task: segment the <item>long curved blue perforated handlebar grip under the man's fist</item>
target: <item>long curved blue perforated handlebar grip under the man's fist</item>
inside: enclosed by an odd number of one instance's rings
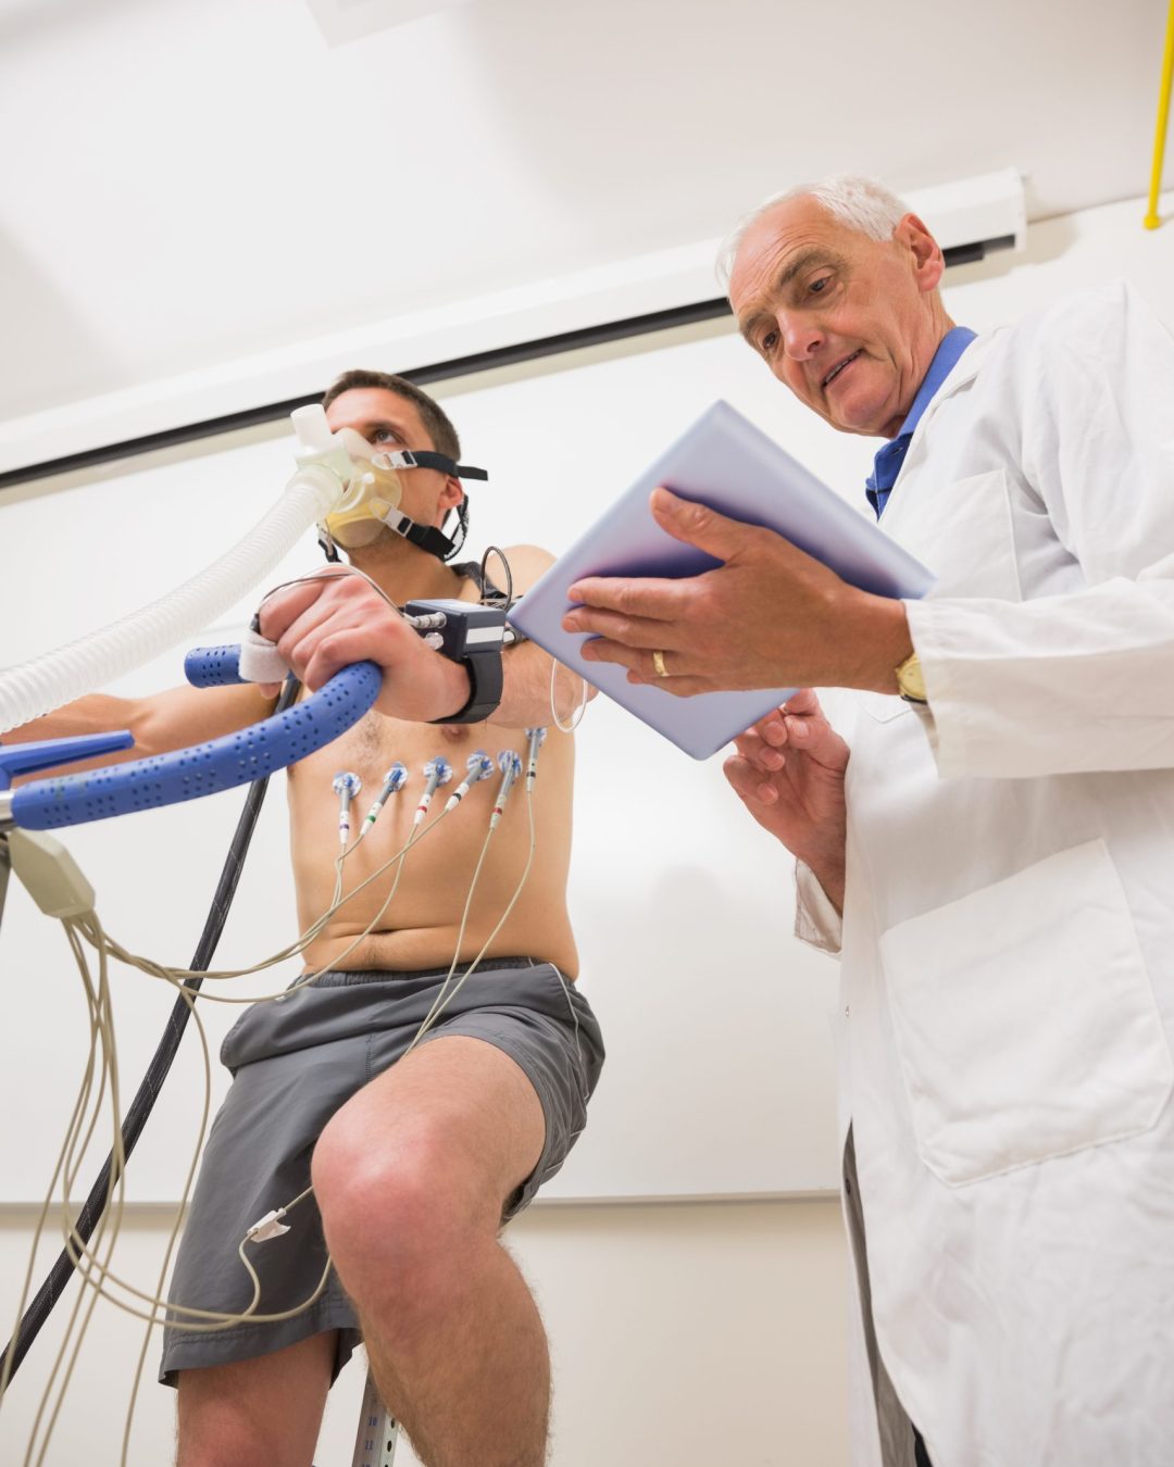
[[[382,685],[376,663],[352,663],[305,703],[236,734],[131,764],[23,785],[12,797],[12,820],[25,830],[56,830],[264,779],[345,734],[371,707]]]

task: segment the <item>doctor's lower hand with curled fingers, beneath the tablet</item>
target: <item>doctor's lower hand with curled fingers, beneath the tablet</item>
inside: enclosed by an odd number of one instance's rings
[[[795,692],[734,744],[738,753],[725,761],[725,778],[763,830],[812,868],[842,911],[850,751],[814,692]]]

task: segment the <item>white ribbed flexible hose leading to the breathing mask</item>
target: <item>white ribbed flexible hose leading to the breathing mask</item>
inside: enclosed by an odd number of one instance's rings
[[[192,637],[257,585],[342,499],[324,464],[305,464],[230,550],[183,585],[100,631],[0,673],[0,734],[92,692]]]

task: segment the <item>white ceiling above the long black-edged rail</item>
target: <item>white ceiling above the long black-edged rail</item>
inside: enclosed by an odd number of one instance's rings
[[[1032,219],[1142,195],[1165,10],[0,0],[0,420],[722,235],[831,170],[1016,166]]]

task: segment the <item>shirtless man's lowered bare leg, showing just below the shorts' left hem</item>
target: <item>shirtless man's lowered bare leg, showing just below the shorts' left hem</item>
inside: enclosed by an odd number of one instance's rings
[[[311,1467],[335,1334],[179,1373],[179,1467]]]

